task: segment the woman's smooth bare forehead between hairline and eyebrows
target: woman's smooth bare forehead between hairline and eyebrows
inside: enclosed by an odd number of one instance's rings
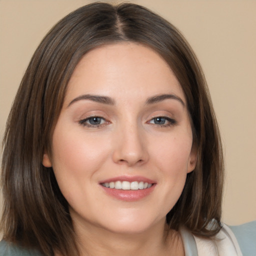
[[[141,97],[173,93],[185,102],[181,86],[166,61],[150,47],[125,42],[103,45],[86,53],[67,85],[66,98],[93,93]]]

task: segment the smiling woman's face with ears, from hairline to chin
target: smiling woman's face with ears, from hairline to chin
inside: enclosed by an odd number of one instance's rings
[[[186,100],[167,63],[135,43],[97,47],[74,69],[52,166],[74,224],[142,232],[165,222],[195,166]]]

